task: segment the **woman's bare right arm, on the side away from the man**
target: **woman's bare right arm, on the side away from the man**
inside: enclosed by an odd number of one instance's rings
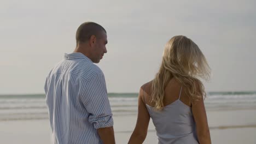
[[[191,109],[196,123],[196,132],[199,143],[211,143],[210,130],[208,127],[203,98],[201,98],[199,101],[194,101],[194,103],[191,106]]]

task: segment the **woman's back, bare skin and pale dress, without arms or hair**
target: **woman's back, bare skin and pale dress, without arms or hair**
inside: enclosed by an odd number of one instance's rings
[[[144,100],[155,125],[159,143],[198,143],[190,102],[182,86],[171,79],[165,88],[164,107],[156,111],[150,106],[150,83],[144,85]]]

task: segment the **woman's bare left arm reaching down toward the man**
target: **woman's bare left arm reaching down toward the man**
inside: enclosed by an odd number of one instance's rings
[[[144,99],[144,91],[141,88],[139,91],[138,96],[138,117],[137,117],[137,123],[136,127],[133,130],[133,133],[130,137],[129,144],[134,143],[143,143],[143,141],[146,139],[147,132],[148,132],[148,124],[150,120],[150,116],[146,107]]]

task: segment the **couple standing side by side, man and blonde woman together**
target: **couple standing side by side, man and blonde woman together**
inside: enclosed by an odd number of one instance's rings
[[[76,33],[77,47],[46,77],[46,104],[53,143],[115,143],[112,112],[104,75],[94,63],[107,53],[106,30],[85,22]],[[203,97],[196,77],[210,68],[199,47],[184,36],[171,38],[155,78],[138,95],[138,118],[129,143],[143,143],[149,119],[159,143],[211,143]]]

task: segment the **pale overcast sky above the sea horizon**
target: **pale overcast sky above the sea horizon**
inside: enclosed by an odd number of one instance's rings
[[[0,94],[43,93],[45,77],[75,48],[85,21],[107,30],[97,64],[108,92],[138,92],[165,43],[186,35],[212,68],[206,91],[256,91],[255,1],[2,1]]]

